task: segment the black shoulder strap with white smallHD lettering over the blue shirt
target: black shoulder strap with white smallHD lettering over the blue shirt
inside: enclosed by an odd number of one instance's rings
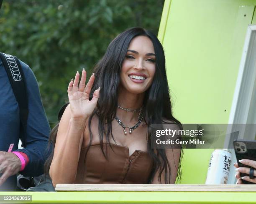
[[[28,94],[26,80],[17,57],[0,52],[0,58],[8,75],[10,85],[20,108],[20,140],[26,147],[26,127],[28,120]]]

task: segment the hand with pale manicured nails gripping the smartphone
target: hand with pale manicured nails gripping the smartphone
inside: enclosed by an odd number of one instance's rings
[[[256,161],[253,161],[253,160],[250,160],[250,159],[242,159],[242,160],[239,160],[239,162],[256,169]],[[236,184],[243,184],[243,180],[248,181],[248,182],[252,182],[252,183],[256,183],[256,170],[254,170],[254,173],[253,173],[254,178],[253,179],[250,179],[249,176],[245,176],[245,177],[243,177],[243,179],[241,179],[240,173],[249,174],[250,168],[248,168],[248,167],[238,167],[238,163],[235,163],[234,166],[237,168],[236,178],[238,180],[237,180]]]

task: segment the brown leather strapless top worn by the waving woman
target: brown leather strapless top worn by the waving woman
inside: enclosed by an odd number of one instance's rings
[[[147,152],[136,150],[129,156],[128,147],[107,145],[107,159],[100,144],[91,145],[80,153],[76,184],[147,184],[154,160]],[[86,153],[87,152],[87,153]]]

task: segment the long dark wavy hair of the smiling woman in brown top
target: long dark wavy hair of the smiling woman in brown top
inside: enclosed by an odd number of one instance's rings
[[[100,135],[100,147],[105,155],[103,150],[103,137],[105,135],[109,144],[110,137],[113,138],[111,123],[113,119],[115,119],[118,106],[118,87],[120,85],[120,72],[123,60],[125,59],[131,40],[133,40],[134,37],[141,35],[148,37],[152,41],[156,54],[156,72],[152,85],[146,91],[143,101],[144,120],[148,125],[148,153],[154,159],[154,167],[148,182],[151,183],[156,171],[159,170],[158,180],[161,182],[161,174],[165,171],[164,182],[165,184],[169,184],[171,179],[171,168],[166,157],[165,149],[151,149],[151,142],[152,139],[154,139],[152,136],[153,132],[151,124],[162,124],[164,122],[163,119],[165,119],[177,124],[180,129],[182,129],[182,125],[172,115],[172,104],[165,69],[164,49],[156,35],[149,30],[145,30],[141,27],[133,27],[120,33],[114,40],[112,40],[112,42],[110,42],[105,55],[94,67],[95,82],[92,87],[90,98],[92,98],[93,92],[98,87],[100,87],[100,97],[97,102],[97,108],[89,117],[90,144],[92,142],[91,122],[92,117],[96,114],[99,122],[98,132]],[[107,127],[105,127],[105,124]],[[182,159],[182,155],[183,151],[181,149],[180,160]],[[51,162],[51,159],[49,159],[48,163],[49,162]],[[181,178],[180,162],[177,178],[178,180]]]

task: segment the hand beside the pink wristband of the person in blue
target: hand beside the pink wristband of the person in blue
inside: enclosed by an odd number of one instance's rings
[[[0,169],[3,175],[0,177],[0,186],[10,176],[17,174],[20,171],[20,159],[12,152],[0,151]]]

